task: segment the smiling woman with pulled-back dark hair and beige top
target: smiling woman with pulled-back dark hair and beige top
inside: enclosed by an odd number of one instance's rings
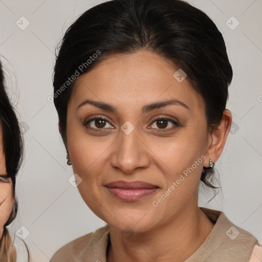
[[[198,205],[230,131],[232,75],[221,32],[184,1],[108,1],[69,27],[53,78],[59,132],[106,226],[52,262],[262,259],[251,233]]]

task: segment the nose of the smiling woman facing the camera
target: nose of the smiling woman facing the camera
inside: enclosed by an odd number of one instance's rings
[[[148,167],[150,149],[136,128],[129,134],[123,130],[120,130],[119,133],[112,147],[110,158],[112,167],[119,168],[126,174],[132,174],[139,168]]]

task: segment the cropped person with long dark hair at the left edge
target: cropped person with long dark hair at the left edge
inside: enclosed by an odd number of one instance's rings
[[[23,137],[6,88],[0,61],[0,261],[15,262],[16,249],[7,226],[15,219],[15,182],[23,160]],[[29,252],[27,248],[27,252]],[[29,255],[29,253],[28,253]]]

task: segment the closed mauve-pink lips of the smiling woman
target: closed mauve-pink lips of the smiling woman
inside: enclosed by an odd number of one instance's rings
[[[136,201],[154,194],[159,187],[143,181],[114,181],[105,185],[108,192],[124,201]]]

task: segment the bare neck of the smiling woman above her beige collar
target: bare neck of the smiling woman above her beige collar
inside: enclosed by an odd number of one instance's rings
[[[182,262],[204,243],[213,226],[197,205],[165,225],[150,232],[135,233],[129,239],[110,226],[111,245],[106,261]]]

